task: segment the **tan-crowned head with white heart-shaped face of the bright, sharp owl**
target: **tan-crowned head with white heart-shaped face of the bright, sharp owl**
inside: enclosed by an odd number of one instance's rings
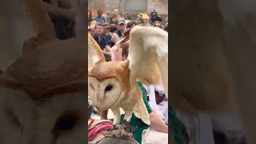
[[[130,90],[129,61],[101,62],[88,74],[88,92],[94,105],[109,109]]]

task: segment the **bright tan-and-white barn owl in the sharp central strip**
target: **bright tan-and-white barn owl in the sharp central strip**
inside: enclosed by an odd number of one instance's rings
[[[90,99],[99,108],[113,111],[114,124],[120,122],[121,107],[127,122],[134,113],[150,125],[137,80],[147,84],[163,82],[168,94],[167,42],[166,31],[150,26],[135,26],[130,33],[129,61],[98,62],[89,71]]]

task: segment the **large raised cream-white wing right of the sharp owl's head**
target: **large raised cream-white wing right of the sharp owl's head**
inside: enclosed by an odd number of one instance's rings
[[[130,82],[162,82],[168,97],[168,33],[153,26],[135,26],[130,32]],[[131,83],[132,85],[134,83]]]

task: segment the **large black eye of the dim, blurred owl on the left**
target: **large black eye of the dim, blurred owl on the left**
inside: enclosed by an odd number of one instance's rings
[[[76,118],[72,116],[64,116],[59,118],[55,125],[55,130],[72,130],[76,124]]]

